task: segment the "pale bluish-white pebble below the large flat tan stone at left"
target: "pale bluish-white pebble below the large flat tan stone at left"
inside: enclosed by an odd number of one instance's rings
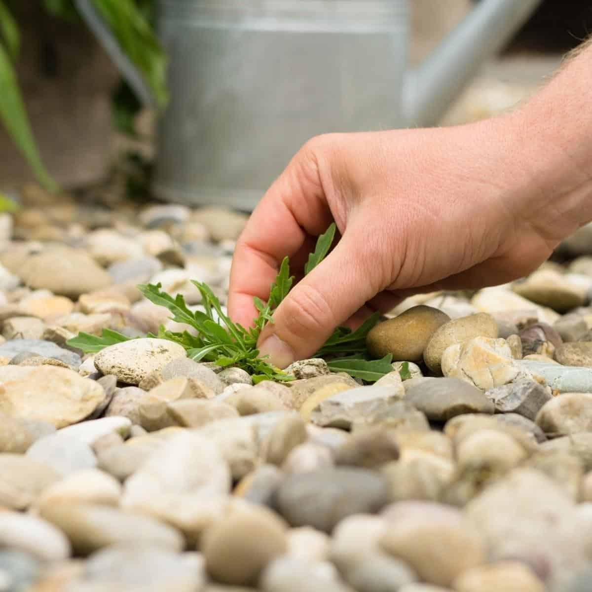
[[[60,432],[36,440],[27,457],[50,466],[62,477],[96,466],[95,453],[88,443]]]

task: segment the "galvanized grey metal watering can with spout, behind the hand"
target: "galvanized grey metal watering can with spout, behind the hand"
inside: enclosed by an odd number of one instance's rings
[[[539,3],[480,0],[409,70],[408,0],[159,0],[171,101],[155,192],[252,210],[317,134],[435,125]]]

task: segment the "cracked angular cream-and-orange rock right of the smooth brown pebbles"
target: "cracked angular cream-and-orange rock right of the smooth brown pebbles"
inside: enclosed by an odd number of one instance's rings
[[[442,355],[445,377],[460,378],[486,391],[513,381],[521,374],[504,339],[475,337],[451,345]],[[522,370],[522,375],[527,375]]]

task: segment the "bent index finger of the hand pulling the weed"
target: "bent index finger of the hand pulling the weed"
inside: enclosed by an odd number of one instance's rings
[[[252,324],[253,297],[268,298],[282,259],[302,259],[303,250],[314,247],[310,236],[323,233],[332,221],[317,154],[305,146],[262,198],[237,242],[230,272],[230,317]]]

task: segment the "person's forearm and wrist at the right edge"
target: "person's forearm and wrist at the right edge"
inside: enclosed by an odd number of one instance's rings
[[[507,121],[523,195],[549,239],[592,220],[592,42]]]

